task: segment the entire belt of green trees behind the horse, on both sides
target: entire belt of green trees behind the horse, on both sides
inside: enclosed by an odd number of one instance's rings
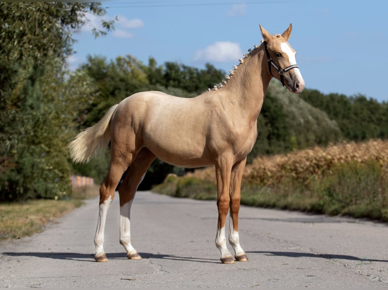
[[[131,55],[114,60],[89,56],[73,72],[65,65],[74,32],[88,15],[103,16],[100,3],[0,3],[0,201],[65,198],[70,174],[102,182],[109,153],[89,164],[72,164],[67,144],[93,125],[107,108],[144,90],[191,98],[218,84],[225,72],[175,62],[143,64]],[[101,18],[102,30],[112,21]],[[258,155],[326,145],[341,138],[388,136],[388,104],[363,95],[347,97],[305,89],[300,96],[271,82],[258,117],[258,138],[249,160]],[[185,169],[156,160],[141,189]]]

